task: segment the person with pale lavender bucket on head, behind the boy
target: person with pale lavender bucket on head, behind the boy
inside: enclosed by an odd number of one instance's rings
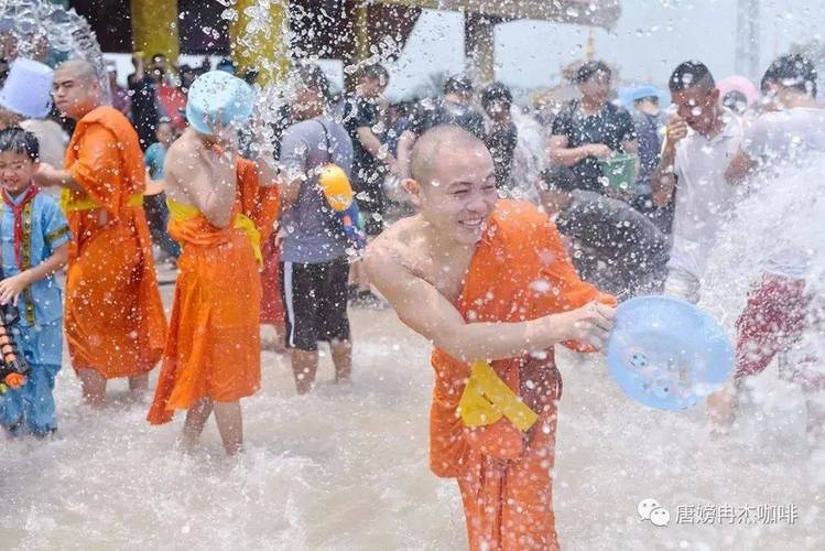
[[[40,160],[53,166],[63,164],[68,134],[48,118],[52,110],[52,79],[47,65],[18,57],[0,90],[0,127],[20,126],[37,138]]]

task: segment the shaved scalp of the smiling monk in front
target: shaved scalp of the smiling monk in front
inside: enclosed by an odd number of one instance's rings
[[[413,145],[410,174],[422,184],[430,183],[438,161],[453,155],[478,155],[486,152],[485,142],[460,127],[442,125],[424,132]]]

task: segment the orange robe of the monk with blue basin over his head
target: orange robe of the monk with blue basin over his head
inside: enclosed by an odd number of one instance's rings
[[[169,233],[183,250],[163,365],[148,415],[152,424],[171,421],[175,410],[189,409],[202,398],[234,402],[260,386],[260,241],[253,245],[236,223],[240,215],[249,217],[261,240],[267,239],[279,199],[275,187],[258,185],[253,163],[239,161],[229,226],[215,227],[200,213],[176,219],[173,209],[170,217]]]

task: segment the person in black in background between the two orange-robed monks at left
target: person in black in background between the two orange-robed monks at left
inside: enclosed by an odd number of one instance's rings
[[[158,120],[161,118],[158,86],[165,71],[165,58],[162,58],[162,55],[155,55],[152,66],[146,67],[142,53],[135,52],[132,56],[134,73],[128,77],[129,93],[132,97],[132,125],[138,131],[143,151],[154,143]]]

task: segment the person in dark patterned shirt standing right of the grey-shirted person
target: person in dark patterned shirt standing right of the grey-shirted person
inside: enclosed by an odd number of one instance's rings
[[[352,188],[368,236],[383,231],[387,204],[383,181],[388,173],[398,173],[395,158],[383,144],[386,114],[379,109],[388,84],[389,73],[381,65],[361,67],[356,91],[344,108],[344,127],[352,140]]]

